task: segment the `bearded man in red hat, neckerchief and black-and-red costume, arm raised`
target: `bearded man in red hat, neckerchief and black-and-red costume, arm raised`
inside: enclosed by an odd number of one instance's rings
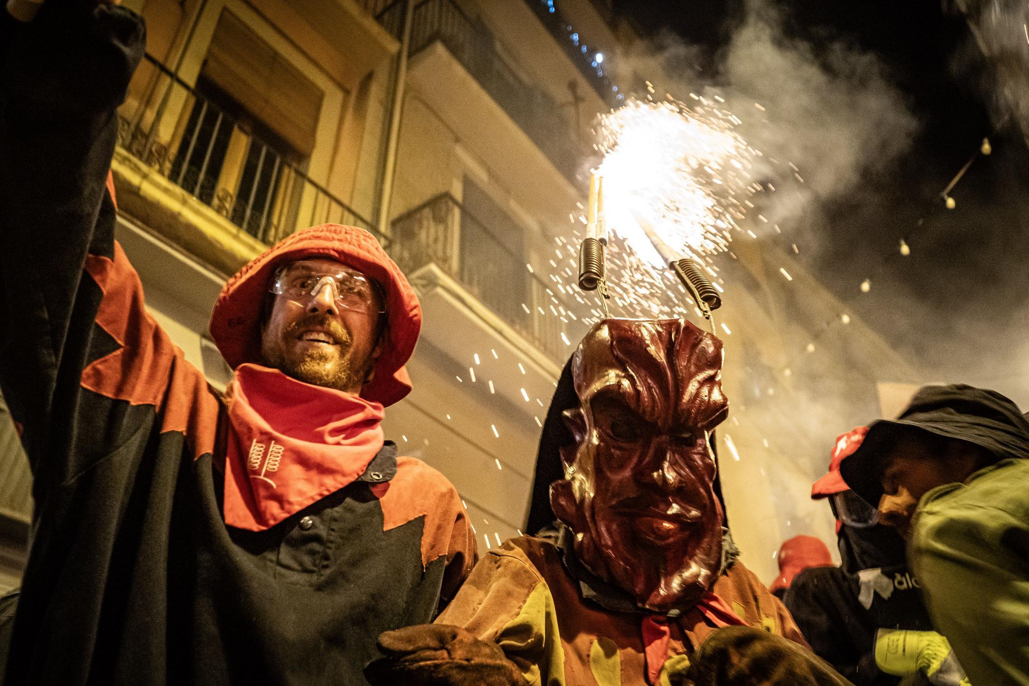
[[[0,383],[36,503],[5,683],[362,683],[474,557],[454,488],[380,427],[418,299],[370,233],[298,231],[225,285],[212,390],[113,240],[143,36],[87,0],[0,20]]]

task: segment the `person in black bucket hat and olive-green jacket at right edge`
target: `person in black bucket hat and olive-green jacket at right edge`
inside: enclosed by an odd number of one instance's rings
[[[908,542],[933,627],[972,684],[1029,684],[1029,419],[1009,398],[925,386],[840,465]]]

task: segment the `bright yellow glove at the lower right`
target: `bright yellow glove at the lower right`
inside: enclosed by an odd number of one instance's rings
[[[933,686],[969,686],[950,642],[935,631],[879,629],[876,665],[896,677],[924,674]]]

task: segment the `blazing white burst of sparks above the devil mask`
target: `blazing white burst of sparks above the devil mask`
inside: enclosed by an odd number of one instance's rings
[[[697,100],[630,100],[601,119],[605,219],[652,266],[664,260],[637,217],[673,250],[704,257],[726,248],[741,198],[760,189],[749,174],[759,153],[734,131],[739,119]]]

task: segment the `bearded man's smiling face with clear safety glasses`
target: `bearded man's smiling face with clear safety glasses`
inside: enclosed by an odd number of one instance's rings
[[[359,394],[380,353],[382,299],[370,282],[334,259],[311,257],[278,273],[270,290],[276,295],[261,329],[264,364]]]

